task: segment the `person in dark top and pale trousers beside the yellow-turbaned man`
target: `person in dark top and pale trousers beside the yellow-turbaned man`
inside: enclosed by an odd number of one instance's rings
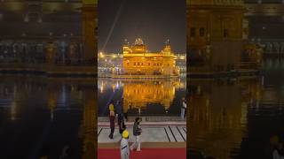
[[[136,148],[137,151],[141,151],[141,140],[140,135],[142,133],[142,129],[140,128],[140,122],[142,121],[141,117],[136,117],[133,125],[133,135],[135,136],[135,141],[132,143],[130,150],[132,151]]]

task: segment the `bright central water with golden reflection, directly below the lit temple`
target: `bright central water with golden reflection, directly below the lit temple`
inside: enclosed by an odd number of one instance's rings
[[[128,116],[180,116],[182,79],[99,79],[99,116],[108,115],[108,104],[123,101],[122,110]]]

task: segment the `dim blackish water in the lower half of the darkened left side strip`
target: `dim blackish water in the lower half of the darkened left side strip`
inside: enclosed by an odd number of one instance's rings
[[[0,158],[59,158],[64,148],[67,158],[90,153],[95,140],[94,83],[1,77]]]

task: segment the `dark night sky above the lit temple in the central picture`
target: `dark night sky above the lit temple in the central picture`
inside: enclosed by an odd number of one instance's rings
[[[174,52],[185,53],[185,14],[185,0],[99,0],[99,51],[121,52],[124,39],[141,37],[151,51],[170,39]]]

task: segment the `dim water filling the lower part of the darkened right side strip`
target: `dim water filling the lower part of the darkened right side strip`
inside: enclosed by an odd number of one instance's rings
[[[271,158],[270,137],[284,141],[284,61],[263,69],[250,79],[187,81],[190,158]]]

